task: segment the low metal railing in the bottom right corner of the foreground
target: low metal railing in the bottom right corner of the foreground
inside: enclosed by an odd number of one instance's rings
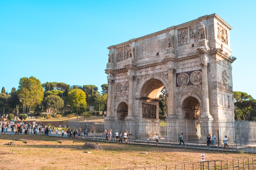
[[[188,162],[188,163],[179,163],[179,164],[167,164],[167,165],[153,165],[153,166],[142,166],[142,167],[129,167],[129,168],[118,168],[118,169],[110,169],[110,170],[186,170],[186,169],[208,169],[208,170],[216,170],[216,169],[227,169],[227,170],[240,170],[240,169],[248,169],[254,170],[254,159],[256,157],[249,158],[238,158],[238,159],[224,159],[224,160],[211,160],[204,162]]]

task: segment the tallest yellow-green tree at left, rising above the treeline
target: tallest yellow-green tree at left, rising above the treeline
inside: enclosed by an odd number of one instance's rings
[[[41,82],[36,77],[23,77],[20,79],[19,87],[17,90],[18,97],[24,97],[25,105],[29,106],[29,112],[31,110],[31,106],[38,105],[41,103],[44,97],[44,89],[41,86]],[[22,101],[21,103],[23,104]]]

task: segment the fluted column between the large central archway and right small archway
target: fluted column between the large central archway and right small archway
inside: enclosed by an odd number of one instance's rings
[[[174,115],[174,89],[173,89],[173,74],[176,72],[173,68],[168,68],[168,95],[167,97],[167,117],[166,119],[175,119]]]

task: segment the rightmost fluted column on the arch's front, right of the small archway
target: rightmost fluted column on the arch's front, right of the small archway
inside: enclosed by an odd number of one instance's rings
[[[202,66],[202,90],[203,90],[203,113],[201,113],[202,119],[211,119],[209,109],[209,93],[208,93],[208,74],[207,74],[207,66],[208,63],[204,61],[200,64]]]

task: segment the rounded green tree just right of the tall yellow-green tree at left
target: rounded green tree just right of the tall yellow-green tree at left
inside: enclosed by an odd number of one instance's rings
[[[64,101],[59,96],[49,95],[44,98],[42,104],[45,106],[45,109],[50,108],[50,106],[53,104],[52,109],[59,110],[63,108]]]

